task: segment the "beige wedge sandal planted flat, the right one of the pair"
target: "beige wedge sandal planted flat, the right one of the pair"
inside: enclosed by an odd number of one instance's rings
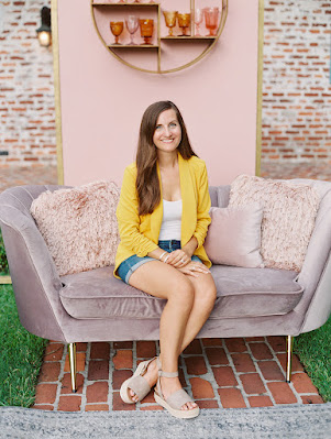
[[[158,359],[157,359],[158,360]],[[158,362],[159,364],[159,362]],[[194,399],[184,391],[184,388],[180,388],[179,391],[173,393],[170,396],[168,396],[166,399],[162,393],[161,389],[161,377],[167,377],[167,378],[175,378],[178,376],[178,371],[177,372],[163,372],[161,367],[158,367],[158,380],[156,383],[156,387],[154,391],[154,398],[157,404],[159,404],[162,407],[166,408],[170,415],[175,416],[176,418],[181,418],[181,419],[189,419],[189,418],[195,418],[199,415],[200,408],[195,407],[188,410],[183,410],[181,407],[187,404],[187,403],[194,403]]]

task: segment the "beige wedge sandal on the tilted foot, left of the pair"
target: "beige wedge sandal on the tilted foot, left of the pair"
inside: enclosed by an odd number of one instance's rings
[[[150,363],[155,359],[157,359],[157,356],[154,356],[152,360],[142,361],[136,367],[134,374],[122,383],[120,396],[124,403],[135,404],[135,400],[133,400],[129,394],[129,388],[136,394],[139,400],[144,399],[144,397],[148,395],[152,387],[143,375],[146,373]]]

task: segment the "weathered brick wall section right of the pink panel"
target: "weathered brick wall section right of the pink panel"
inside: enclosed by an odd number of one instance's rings
[[[262,161],[331,161],[331,2],[264,6]]]

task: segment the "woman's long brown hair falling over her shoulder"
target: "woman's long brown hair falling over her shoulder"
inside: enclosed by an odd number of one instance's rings
[[[153,143],[153,135],[158,116],[163,111],[172,109],[175,111],[181,128],[181,140],[177,150],[185,160],[197,155],[191,149],[183,117],[175,103],[169,100],[152,103],[142,118],[135,158],[137,169],[135,187],[139,198],[139,215],[152,213],[161,201],[159,180],[156,168],[157,151]]]

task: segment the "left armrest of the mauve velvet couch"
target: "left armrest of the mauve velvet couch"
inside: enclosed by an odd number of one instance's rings
[[[21,323],[36,336],[65,341],[62,282],[29,209],[2,202],[0,224]]]

